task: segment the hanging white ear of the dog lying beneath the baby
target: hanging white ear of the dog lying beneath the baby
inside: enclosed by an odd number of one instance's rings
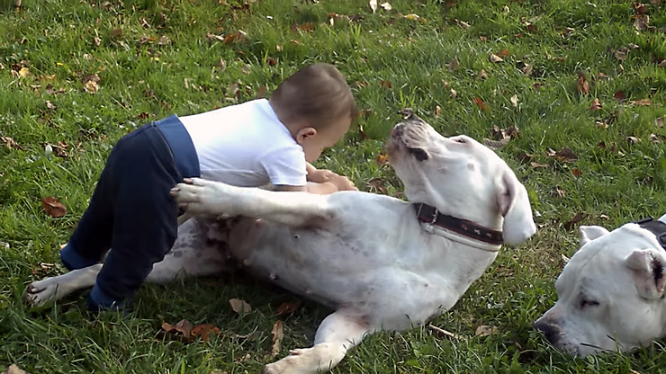
[[[505,244],[519,245],[536,233],[527,190],[510,169],[502,175],[497,205],[504,217],[502,231]]]

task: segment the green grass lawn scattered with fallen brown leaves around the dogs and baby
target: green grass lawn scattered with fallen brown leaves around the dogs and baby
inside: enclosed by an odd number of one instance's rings
[[[270,331],[278,319],[285,330],[281,355],[308,346],[329,311],[306,301],[293,315],[277,317],[281,302],[298,298],[239,275],[146,285],[127,317],[86,314],[85,292],[47,309],[24,306],[21,295],[31,280],[64,271],[58,247],[123,134],[168,114],[253,99],[303,64],[325,61],[348,77],[366,111],[320,159],[321,167],[347,174],[362,190],[398,193],[392,170],[375,159],[398,120],[395,111],[406,106],[445,135],[482,139],[493,126],[517,126],[519,137],[498,152],[530,191],[540,227],[526,245],[504,249],[464,298],[433,321],[465,339],[424,328],[375,334],[334,372],[662,371],[661,343],[572,359],[530,325],[554,303],[561,254],[576,250],[579,224],[611,228],[666,211],[666,147],[649,138],[666,135],[655,126],[666,113],[666,68],[657,66],[666,58],[666,38],[654,30],[666,26],[666,4],[647,4],[654,29],[636,31],[628,1],[394,0],[392,11],[376,13],[365,0],[245,3],[23,0],[19,12],[13,1],[0,4],[0,136],[18,145],[0,145],[0,240],[6,243],[0,246],[0,370],[16,363],[32,373],[257,372],[274,360]],[[331,25],[329,13],[354,21],[335,18]],[[402,16],[412,13],[420,18]],[[228,43],[207,37],[239,30],[240,38]],[[626,58],[614,56],[631,44],[638,48]],[[505,49],[503,62],[491,62],[491,53]],[[449,69],[454,58],[457,68]],[[533,64],[531,75],[518,61]],[[19,74],[23,67],[27,76]],[[577,91],[579,73],[589,94]],[[94,74],[100,80],[93,94],[84,81]],[[615,99],[619,91],[625,101]],[[602,108],[590,111],[595,98]],[[643,99],[651,105],[630,103]],[[562,147],[578,160],[547,156],[548,148]],[[531,160],[521,162],[521,153]],[[373,179],[379,181],[368,184]],[[50,218],[41,208],[46,196],[61,200],[67,215]],[[567,224],[579,212],[581,222]],[[229,298],[247,300],[252,311],[238,316]],[[182,318],[217,325],[221,333],[191,344],[157,334],[163,321]],[[478,325],[499,331],[474,336]],[[256,339],[238,337],[253,331]]]

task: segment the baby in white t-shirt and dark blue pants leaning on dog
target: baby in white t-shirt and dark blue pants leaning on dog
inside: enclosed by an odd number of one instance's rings
[[[347,178],[310,163],[345,135],[356,114],[345,77],[315,64],[286,78],[269,100],[172,115],[121,138],[60,254],[71,271],[109,252],[86,307],[123,307],[168,253],[179,213],[169,191],[183,178],[322,194],[355,190]]]

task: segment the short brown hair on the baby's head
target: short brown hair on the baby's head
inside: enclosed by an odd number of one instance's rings
[[[358,115],[345,76],[324,63],[302,67],[284,79],[271,94],[270,102],[284,124],[306,121],[318,130],[346,116],[355,120]]]

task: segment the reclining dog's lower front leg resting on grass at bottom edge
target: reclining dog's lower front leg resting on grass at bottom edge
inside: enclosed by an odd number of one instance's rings
[[[321,322],[311,348],[291,351],[284,359],[266,365],[262,374],[327,372],[372,332],[363,316],[338,310]]]

